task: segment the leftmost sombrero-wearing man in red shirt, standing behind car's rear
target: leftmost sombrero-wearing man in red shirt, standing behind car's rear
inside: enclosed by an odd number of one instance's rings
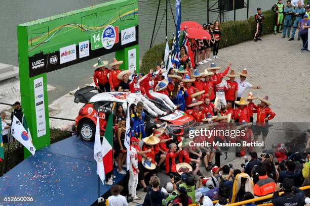
[[[99,93],[110,91],[110,84],[108,79],[109,69],[105,68],[105,66],[109,63],[109,61],[101,61],[98,59],[98,63],[94,64],[94,67],[97,68],[94,71],[94,83]]]

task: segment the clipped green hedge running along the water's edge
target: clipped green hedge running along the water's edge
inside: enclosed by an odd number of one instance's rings
[[[276,14],[271,11],[263,12],[263,34],[270,34],[274,32],[274,26],[276,23]],[[253,40],[256,32],[255,18],[250,17],[243,21],[227,21],[221,24],[221,42],[220,48],[235,45],[244,41]],[[170,41],[171,42],[171,41]],[[171,45],[171,43],[170,43]],[[141,72],[143,74],[148,73],[149,69],[155,68],[155,63],[161,62],[165,53],[165,42],[154,45],[144,54],[142,58]]]

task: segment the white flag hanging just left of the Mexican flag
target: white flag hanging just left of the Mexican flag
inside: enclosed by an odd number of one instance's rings
[[[97,116],[96,133],[95,133],[95,144],[94,144],[94,159],[97,162],[97,174],[104,184],[104,166],[103,166],[103,156],[101,151],[100,142],[100,125],[99,125],[99,115]]]

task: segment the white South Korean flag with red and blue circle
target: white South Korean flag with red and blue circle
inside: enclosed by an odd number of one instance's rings
[[[11,134],[17,141],[19,141],[22,145],[24,145],[24,147],[26,147],[31,152],[32,155],[34,155],[35,147],[33,146],[29,138],[28,132],[23,127],[21,122],[17,119],[17,117],[15,117],[15,115],[13,117]]]

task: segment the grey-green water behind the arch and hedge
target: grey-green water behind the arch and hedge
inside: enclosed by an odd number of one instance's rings
[[[175,2],[171,1],[172,11],[174,13]],[[17,33],[16,26],[21,23],[41,19],[44,17],[53,16],[56,14],[65,13],[68,11],[97,5],[108,1],[99,0],[2,0],[0,7],[0,42],[2,49],[0,50],[0,63],[11,64],[18,66],[17,56]],[[210,6],[216,1],[210,1]],[[256,8],[262,8],[262,11],[269,10],[276,1],[272,0],[250,0],[249,1],[249,16],[256,13]],[[182,21],[197,21],[201,24],[207,22],[207,1],[206,0],[182,0]],[[158,1],[154,0],[139,0],[139,44],[140,44],[140,59],[149,48],[150,39],[152,35],[154,20],[158,7]],[[158,15],[157,29],[163,18],[166,10],[166,1],[161,1],[160,12]],[[247,9],[236,11],[236,19],[246,19]],[[217,20],[217,13],[209,13],[209,21]],[[234,12],[226,12],[225,19],[232,20]],[[163,42],[166,36],[166,16],[163,18],[160,30],[155,38],[154,44]],[[172,38],[172,33],[175,30],[170,5],[168,2],[168,37]],[[103,57],[109,61],[112,60],[114,54],[109,54]],[[78,65],[63,68],[54,72],[48,73],[48,83],[56,86],[57,89],[49,92],[49,102],[64,95],[70,90],[78,86],[84,86],[92,82],[93,65],[96,60],[83,62]]]

